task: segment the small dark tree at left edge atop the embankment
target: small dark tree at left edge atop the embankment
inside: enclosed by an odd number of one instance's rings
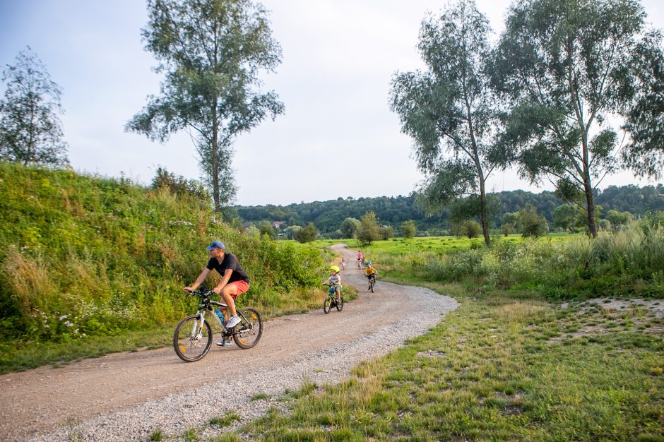
[[[66,165],[67,144],[59,118],[61,89],[30,47],[2,75],[0,160],[23,165]]]

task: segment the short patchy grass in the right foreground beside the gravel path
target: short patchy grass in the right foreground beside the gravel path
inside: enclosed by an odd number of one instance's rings
[[[661,319],[645,313],[651,328],[638,330],[611,325],[641,321],[637,310],[500,292],[459,299],[427,335],[338,386],[305,386],[291,414],[244,431],[275,441],[663,440]]]

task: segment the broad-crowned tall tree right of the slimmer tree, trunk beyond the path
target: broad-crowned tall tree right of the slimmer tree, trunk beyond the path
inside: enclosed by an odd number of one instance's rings
[[[530,181],[547,178],[567,188],[563,193],[580,191],[593,237],[593,189],[622,167],[625,135],[649,137],[638,126],[625,125],[622,136],[614,127],[641,90],[624,85],[645,42],[644,19],[635,0],[516,2],[494,54],[493,84],[510,106],[504,149]]]

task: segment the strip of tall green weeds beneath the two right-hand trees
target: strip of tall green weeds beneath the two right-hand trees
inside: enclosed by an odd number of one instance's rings
[[[615,233],[602,232],[596,239],[497,239],[490,249],[467,246],[408,255],[381,246],[370,253],[379,268],[396,277],[529,289],[551,299],[664,297],[664,223],[656,217],[631,222]]]

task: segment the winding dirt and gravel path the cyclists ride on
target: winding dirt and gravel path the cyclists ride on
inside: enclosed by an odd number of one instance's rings
[[[229,410],[246,422],[278,405],[275,397],[286,388],[337,383],[352,366],[426,333],[456,308],[450,297],[420,287],[379,281],[375,293],[367,292],[355,251],[345,244],[333,249],[348,262],[344,285],[360,295],[343,311],[326,315],[321,306],[267,321],[256,347],[213,345],[189,364],[169,347],[0,376],[0,440],[136,441],[157,429],[174,437]],[[263,399],[251,400],[256,395]]]

